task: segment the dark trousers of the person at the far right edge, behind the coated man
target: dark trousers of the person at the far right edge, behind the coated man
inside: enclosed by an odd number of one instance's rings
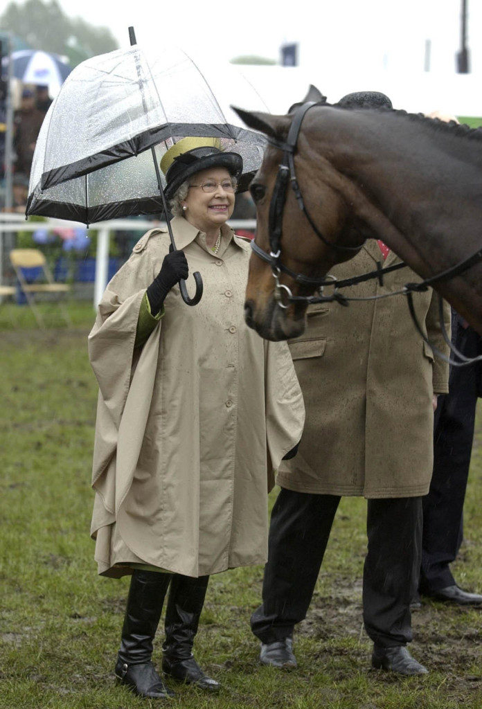
[[[464,329],[458,318],[455,322],[454,344],[466,357],[476,357],[481,352],[480,335]],[[439,396],[435,411],[434,469],[430,491],[423,498],[421,591],[455,584],[449,564],[462,542],[480,367],[453,367],[449,393]]]

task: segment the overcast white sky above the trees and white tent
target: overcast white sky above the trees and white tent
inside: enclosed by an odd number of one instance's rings
[[[454,72],[461,0],[60,0],[70,15],[105,25],[128,45],[129,25],[139,44],[166,40],[219,60],[257,54],[278,59],[285,41],[298,41],[301,64],[417,67],[425,40],[432,69]],[[482,34],[480,0],[468,0],[469,46],[478,69]]]

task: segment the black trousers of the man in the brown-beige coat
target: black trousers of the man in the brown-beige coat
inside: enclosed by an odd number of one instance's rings
[[[281,489],[271,513],[263,602],[251,627],[264,643],[291,636],[306,617],[340,497]],[[410,600],[417,588],[422,498],[369,500],[363,574],[366,632],[382,647],[412,640]]]

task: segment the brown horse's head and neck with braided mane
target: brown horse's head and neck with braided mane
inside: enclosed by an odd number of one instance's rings
[[[313,98],[287,116],[235,109],[268,141],[251,184],[247,325],[301,335],[306,298],[343,302],[325,274],[375,238],[482,334],[482,129],[376,106],[372,92]]]

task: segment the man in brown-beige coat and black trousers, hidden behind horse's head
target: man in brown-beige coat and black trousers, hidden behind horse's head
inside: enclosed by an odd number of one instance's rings
[[[386,248],[386,247],[385,247]],[[399,262],[393,252],[385,266]],[[359,255],[332,270],[353,277],[383,262],[369,240]],[[408,268],[346,289],[372,298],[420,281]],[[415,296],[417,318],[431,342],[447,351],[438,296]],[[445,307],[447,328],[450,313]],[[298,454],[282,465],[281,492],[269,530],[263,603],[252,615],[260,659],[296,666],[293,627],[306,616],[341,496],[368,498],[364,565],[366,632],[373,664],[400,674],[426,669],[406,649],[412,640],[410,600],[420,569],[422,496],[432,474],[433,406],[448,391],[448,365],[417,333],[405,296],[311,306],[308,327],[290,342],[306,406]]]

